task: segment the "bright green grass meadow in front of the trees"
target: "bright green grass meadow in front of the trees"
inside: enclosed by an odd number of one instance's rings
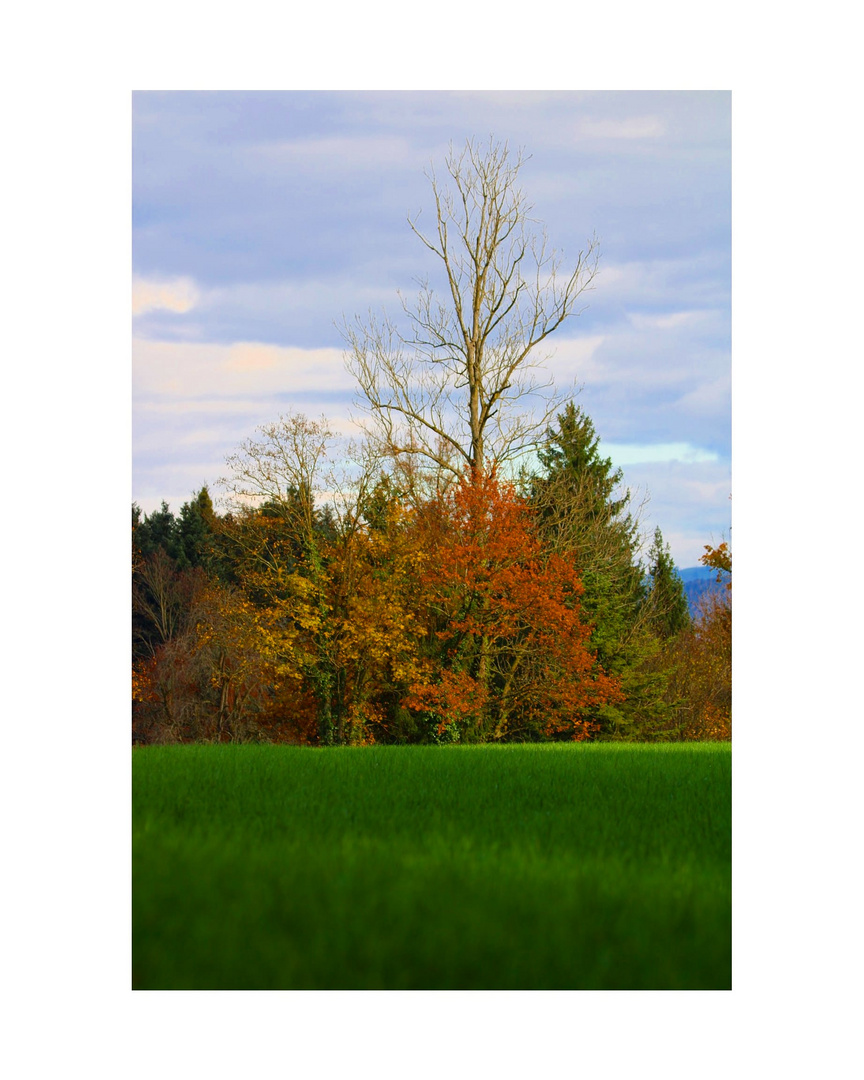
[[[728,743],[133,752],[137,989],[728,989]]]

